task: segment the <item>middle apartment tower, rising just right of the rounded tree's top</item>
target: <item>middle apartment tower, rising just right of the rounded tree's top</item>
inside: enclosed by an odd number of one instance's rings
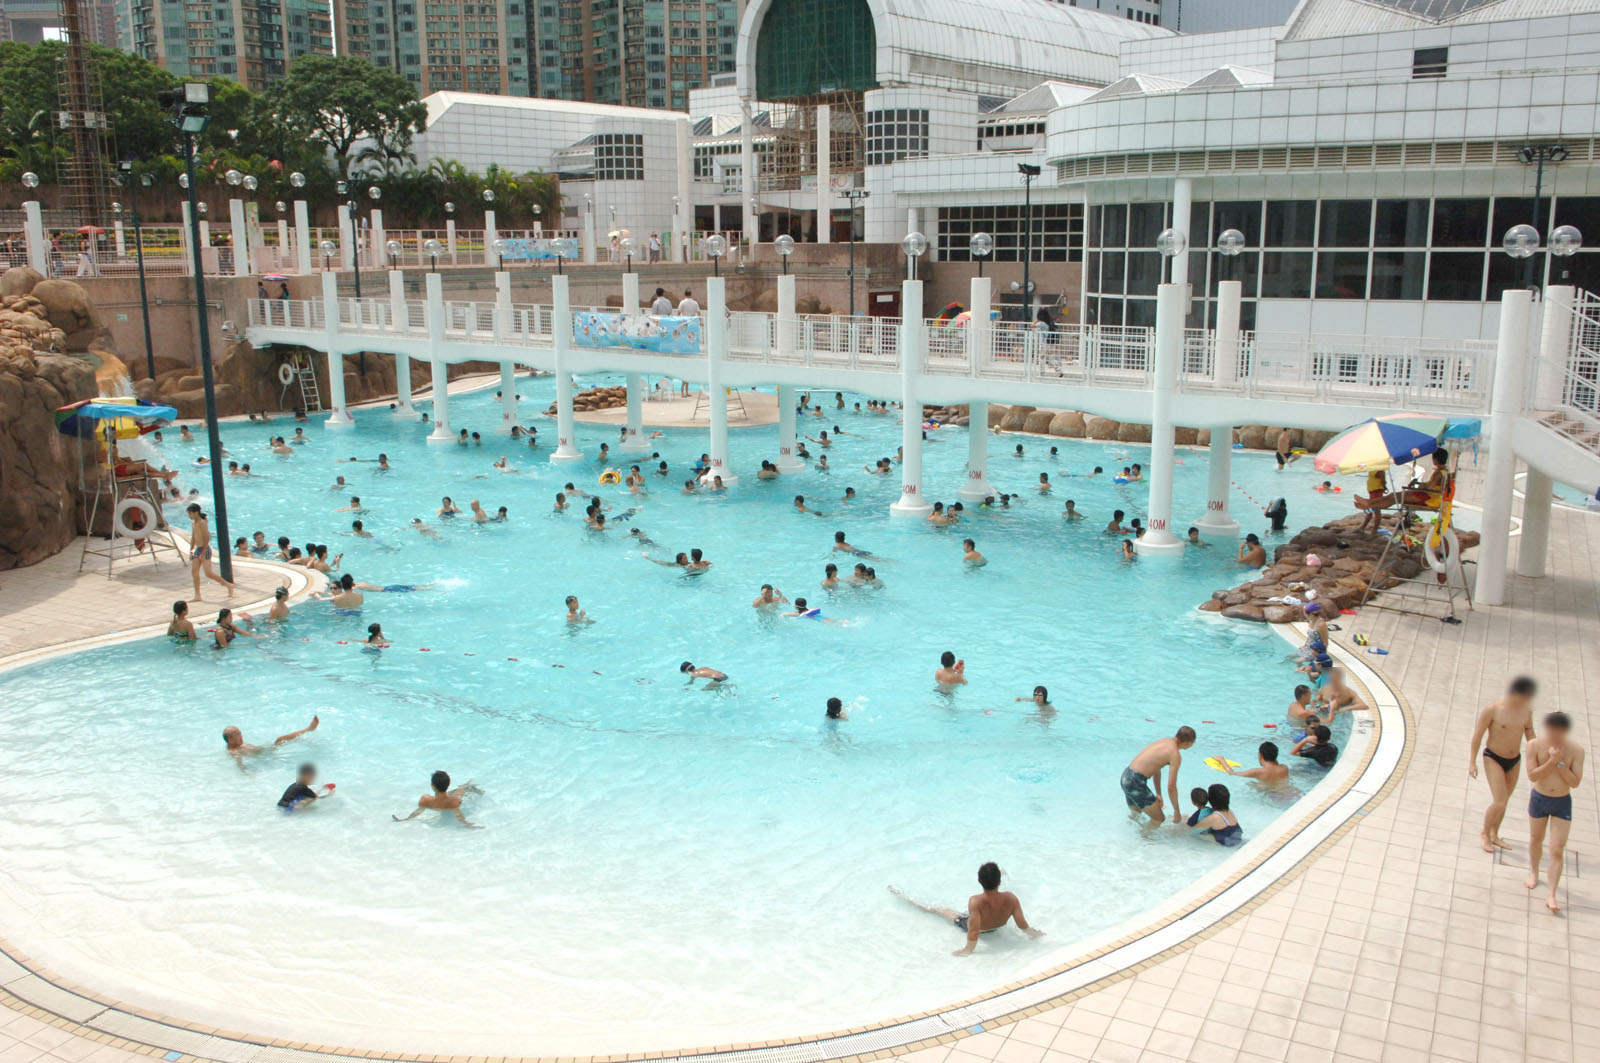
[[[339,54],[403,74],[419,96],[531,96],[530,2],[333,0],[333,21]]]

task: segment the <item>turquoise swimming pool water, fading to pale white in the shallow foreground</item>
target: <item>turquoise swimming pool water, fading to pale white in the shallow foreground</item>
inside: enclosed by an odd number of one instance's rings
[[[518,389],[523,419],[554,435],[542,416],[552,381],[518,378]],[[227,483],[234,535],[331,543],[357,580],[434,588],[371,592],[358,616],[298,605],[227,653],[155,639],[5,677],[10,940],[122,999],[230,1029],[590,1055],[765,1041],[952,1004],[1066,959],[1074,941],[1238,852],[1141,832],[1117,786],[1144,743],[1181,724],[1200,732],[1179,778],[1186,797],[1221,778],[1203,757],[1253,764],[1274,735],[1262,724],[1282,719],[1298,679],[1274,632],[1195,610],[1240,578],[1232,544],[1181,560],[1115,557],[1120,536],[1101,528],[1114,507],[1142,515],[1146,490],[1080,474],[1149,466],[1147,448],[995,439],[990,480],[1022,498],[934,528],[891,517],[898,477],[861,471],[894,453],[894,416],[803,421],[811,435],[846,429],[827,451],[835,471],[776,482],[754,475],[776,455],[776,426],[734,427],[742,480],[725,496],[680,493],[706,431],[669,431],[653,445],[672,475],[648,477],[632,498],[595,487],[594,461],[550,466],[547,450],[488,435],[493,391],[454,399],[451,413],[485,445],[427,445],[424,426],[387,411],[358,415],[347,432],[307,426],[291,458],[264,447],[290,423],[224,427],[232,456],[259,474]],[[616,440],[606,426],[578,434],[590,455]],[[931,435],[928,495],[954,501],[966,434]],[[1016,442],[1021,459],[1008,453]],[[379,451],[394,472],[374,474]],[[187,467],[202,443],[168,432],[162,453]],[[334,463],[352,455],[368,461]],[[501,455],[515,474],[491,467]],[[1206,480],[1203,453],[1182,458],[1179,522],[1203,512]],[[1285,495],[1291,528],[1349,511],[1347,493],[1314,490],[1322,477],[1309,466],[1280,474],[1270,455],[1235,455],[1246,530],[1266,530],[1246,491]],[[1058,483],[1050,496],[1032,490],[1042,471]],[[350,490],[330,490],[339,474]],[[197,471],[189,479],[210,487]],[[566,480],[598,491],[611,517],[638,512],[587,532],[581,503],[550,512]],[[846,485],[850,504],[838,501]],[[373,540],[347,535],[352,514],[333,512],[352,493]],[[827,515],[795,512],[795,493]],[[442,495],[507,506],[510,520],[438,522]],[[1085,520],[1061,519],[1066,498]],[[442,538],[410,530],[418,515]],[[714,567],[656,567],[630,527],[662,556],[699,546]],[[880,557],[882,589],[819,589],[834,530]],[[965,535],[986,568],[962,564]],[[752,608],[762,583],[838,623]],[[565,623],[566,594],[594,624]],[[357,645],[374,621],[394,642],[381,653]],[[946,648],[970,679],[949,696],[933,685]],[[731,680],[690,687],[683,660]],[[1035,684],[1050,687],[1054,716],[1016,701]],[[829,696],[846,703],[846,722],[824,720]],[[320,730],[248,772],[222,752],[224,725],[270,743],[312,714]],[[275,800],[302,759],[338,794],[285,816]],[[390,820],[435,768],[485,789],[467,815],[486,829],[435,813]],[[1309,789],[1320,773],[1298,764],[1293,778]],[[1232,789],[1246,837],[1286,807]],[[1002,864],[1048,935],[1006,930],[954,959],[962,935],[885,887],[962,908],[984,860]]]

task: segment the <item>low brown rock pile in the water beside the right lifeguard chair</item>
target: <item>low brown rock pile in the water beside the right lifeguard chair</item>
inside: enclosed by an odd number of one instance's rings
[[[1389,556],[1384,573],[1378,576],[1378,559],[1389,544],[1389,536],[1357,532],[1362,515],[1341,517],[1320,528],[1306,528],[1272,552],[1272,564],[1259,576],[1226,591],[1214,591],[1200,608],[1222,613],[1230,620],[1286,624],[1304,620],[1299,605],[1285,605],[1272,599],[1293,596],[1306,600],[1307,591],[1315,591],[1323,610],[1338,616],[1342,608],[1355,608],[1368,588],[1387,591],[1400,583],[1422,575],[1427,560],[1419,546],[1397,546]],[[1387,527],[1394,527],[1390,517]],[[1477,532],[1456,530],[1461,549],[1478,544]],[[1307,564],[1307,559],[1317,564]],[[1434,578],[1432,573],[1426,578]],[[1374,581],[1376,580],[1376,581]]]

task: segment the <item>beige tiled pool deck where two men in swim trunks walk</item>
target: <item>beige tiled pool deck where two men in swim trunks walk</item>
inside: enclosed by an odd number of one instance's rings
[[[1464,475],[1461,496],[1482,490]],[[1515,549],[1514,549],[1515,557]],[[0,660],[112,629],[165,624],[187,597],[187,568],[130,565],[115,581],[77,551],[0,573]],[[1390,610],[1344,618],[1387,656],[1368,656],[1411,712],[1397,784],[1262,900],[1163,959],[1139,964],[1066,1004],[899,1049],[914,1063],[1218,1060],[1570,1060],[1600,1050],[1600,780],[1574,796],[1562,901],[1522,880],[1526,850],[1490,856],[1477,842],[1488,789],[1466,773],[1477,709],[1506,682],[1539,679],[1539,708],[1574,717],[1594,746],[1600,708],[1600,517],[1557,507],[1550,576],[1512,576],[1504,607],[1466,623]],[[275,573],[250,584],[270,588]],[[242,600],[250,597],[238,596]],[[1205,751],[1210,752],[1210,751]],[[1526,778],[1504,836],[1526,842]],[[1069,935],[1070,927],[1046,929]],[[13,1010],[5,1010],[6,1007]],[[774,1034],[781,1031],[773,1031]],[[115,1041],[0,991],[0,1063],[189,1060]],[[1582,1045],[1587,1045],[1582,1047]],[[530,1045],[531,1047],[531,1045]],[[274,1049],[262,1060],[290,1058]],[[210,1058],[210,1057],[198,1057]]]

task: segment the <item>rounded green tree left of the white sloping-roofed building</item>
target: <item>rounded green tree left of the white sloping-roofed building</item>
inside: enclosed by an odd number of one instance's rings
[[[408,80],[355,56],[301,56],[251,115],[262,130],[278,123],[280,147],[291,138],[330,154],[341,176],[355,168],[363,141],[386,160],[403,160],[427,125],[427,107]]]

